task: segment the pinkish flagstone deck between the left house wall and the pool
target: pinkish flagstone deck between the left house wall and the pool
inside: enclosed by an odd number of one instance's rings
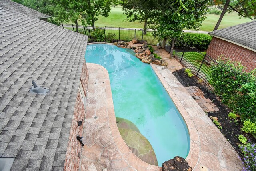
[[[161,171],[132,153],[116,124],[108,71],[98,64],[86,63],[89,71],[84,147],[81,170]]]

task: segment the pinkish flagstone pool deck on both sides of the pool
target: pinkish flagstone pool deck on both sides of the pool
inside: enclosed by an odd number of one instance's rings
[[[90,78],[81,170],[161,171],[161,167],[138,159],[124,143],[116,125],[108,72],[98,64],[87,63],[87,66]],[[154,64],[151,66],[188,126],[191,142],[186,161],[192,169],[242,170],[236,151],[170,70]]]

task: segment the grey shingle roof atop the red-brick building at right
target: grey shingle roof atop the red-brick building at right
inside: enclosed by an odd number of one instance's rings
[[[209,32],[256,50],[256,21]]]

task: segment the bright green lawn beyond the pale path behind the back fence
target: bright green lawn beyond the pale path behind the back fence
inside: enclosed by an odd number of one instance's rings
[[[96,21],[96,26],[110,26],[110,27],[122,27],[122,28],[143,28],[144,23],[136,22],[128,22],[124,21],[126,19],[125,14],[122,11],[121,6],[112,6],[111,12],[107,18],[99,16],[98,21]],[[203,31],[212,31],[216,22],[218,21],[219,15],[214,14],[207,14],[206,20],[204,20],[202,27],[200,30]],[[239,19],[236,12],[233,13],[226,13],[225,16],[222,19],[222,22],[220,23],[220,28],[226,28],[229,26],[234,26],[237,24],[250,22],[252,20],[246,18]],[[81,22],[78,22],[79,25],[81,25]]]

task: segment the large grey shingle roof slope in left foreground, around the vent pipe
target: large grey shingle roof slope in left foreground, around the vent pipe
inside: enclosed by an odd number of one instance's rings
[[[0,157],[63,170],[87,36],[0,7]],[[29,93],[31,81],[50,89]]]

